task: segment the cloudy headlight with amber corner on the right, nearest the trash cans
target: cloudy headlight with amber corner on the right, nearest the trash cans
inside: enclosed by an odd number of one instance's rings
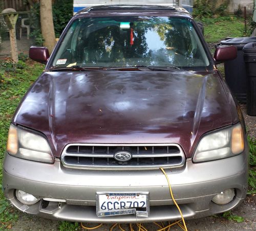
[[[196,149],[194,162],[222,159],[240,154],[244,150],[241,124],[205,135]]]

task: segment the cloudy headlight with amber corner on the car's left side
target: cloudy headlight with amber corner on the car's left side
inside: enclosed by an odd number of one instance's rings
[[[23,159],[54,163],[51,149],[44,137],[14,125],[9,129],[7,152]]]

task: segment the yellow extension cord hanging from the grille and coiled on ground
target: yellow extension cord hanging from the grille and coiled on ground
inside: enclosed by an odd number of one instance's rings
[[[176,200],[175,200],[175,198],[174,198],[173,190],[172,190],[172,187],[170,186],[169,178],[168,178],[168,176],[167,176],[167,174],[165,173],[165,171],[164,171],[163,168],[160,168],[160,170],[163,172],[164,176],[166,177],[166,180],[167,180],[168,186],[169,186],[170,196],[172,197],[172,199],[173,199],[173,201],[174,201],[174,204],[176,205],[177,209],[179,210],[179,213],[180,213],[180,215],[181,215],[181,220],[175,221],[175,222],[173,222],[173,223],[168,222],[168,225],[166,225],[166,226],[164,226],[163,222],[161,222],[161,225],[158,224],[157,222],[153,222],[153,223],[154,223],[155,225],[157,225],[157,226],[160,228],[160,229],[157,229],[157,231],[165,231],[166,229],[167,229],[166,231],[169,231],[169,230],[170,230],[170,227],[172,227],[173,225],[176,225],[176,224],[177,224],[179,227],[181,227],[182,230],[187,231],[187,226],[186,226],[186,223],[185,223],[183,214],[182,214],[182,212],[181,212],[181,210],[180,210],[179,205],[177,204],[177,202],[176,202]],[[182,221],[183,225],[180,223],[181,221]],[[86,226],[84,226],[84,225],[82,224],[82,222],[81,222],[81,227],[84,228],[84,229],[88,229],[88,230],[92,230],[92,229],[99,228],[101,225],[102,225],[102,223],[99,224],[99,225],[97,225],[97,226],[95,226],[95,227],[86,227]],[[141,223],[136,223],[135,225],[138,227],[138,231],[147,231],[147,229],[146,229]],[[123,229],[119,223],[113,224],[113,225],[111,226],[111,228],[110,228],[110,231],[113,231],[113,229],[114,229],[116,226],[118,226],[121,231],[125,231],[125,229]],[[130,227],[130,231],[135,231],[135,229],[133,228],[133,225],[132,225],[131,223],[129,224],[129,227]]]

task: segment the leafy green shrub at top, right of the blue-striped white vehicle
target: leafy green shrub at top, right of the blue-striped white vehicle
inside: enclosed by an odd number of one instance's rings
[[[230,0],[225,0],[218,6],[217,0],[196,0],[194,3],[193,16],[195,18],[223,16],[226,14]]]

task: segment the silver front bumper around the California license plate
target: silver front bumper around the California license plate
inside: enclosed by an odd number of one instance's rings
[[[174,197],[186,219],[222,213],[236,207],[246,196],[248,153],[200,164],[186,161],[184,168],[167,170]],[[19,159],[6,154],[4,161],[4,193],[17,209],[37,216],[100,223],[153,222],[180,219],[170,199],[168,184],[160,170],[88,171],[64,168],[60,161],[53,165]],[[236,189],[234,199],[218,205],[211,199],[225,189]],[[20,203],[15,189],[40,198],[34,205]],[[149,192],[150,216],[135,215],[97,217],[96,192]]]

